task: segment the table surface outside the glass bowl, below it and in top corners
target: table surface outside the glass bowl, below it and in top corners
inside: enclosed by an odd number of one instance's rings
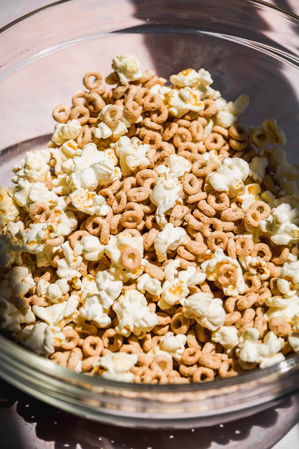
[[[0,27],[50,2],[2,2]],[[269,3],[299,15],[298,0],[273,0]],[[298,421],[299,393],[253,417],[219,426],[186,431],[123,429],[79,419],[0,382],[2,449],[183,449],[186,445],[190,449],[249,449],[254,445],[257,449],[295,449],[299,447]]]

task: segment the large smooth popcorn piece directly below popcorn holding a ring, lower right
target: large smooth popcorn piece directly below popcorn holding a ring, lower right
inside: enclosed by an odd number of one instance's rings
[[[224,325],[225,310],[220,298],[213,298],[210,293],[199,292],[185,300],[185,316],[195,318],[201,326],[217,330]]]

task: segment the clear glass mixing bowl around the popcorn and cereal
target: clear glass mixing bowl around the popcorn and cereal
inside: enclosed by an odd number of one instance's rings
[[[251,97],[244,126],[276,118],[288,160],[298,152],[299,18],[262,1],[72,0],[34,11],[0,30],[1,184],[53,129],[52,110],[69,104],[87,70],[111,71],[134,53],[165,78],[204,67],[213,87]],[[61,368],[0,336],[0,377],[85,418],[131,427],[217,424],[270,407],[297,385],[299,356],[238,378],[191,385],[138,385]]]

